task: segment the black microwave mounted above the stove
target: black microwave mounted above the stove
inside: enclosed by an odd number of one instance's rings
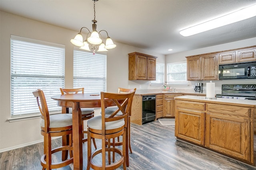
[[[256,78],[256,62],[219,65],[219,80]]]

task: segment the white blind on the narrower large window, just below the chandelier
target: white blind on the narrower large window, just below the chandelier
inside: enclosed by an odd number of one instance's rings
[[[84,87],[84,92],[106,92],[105,54],[74,50],[73,87]]]

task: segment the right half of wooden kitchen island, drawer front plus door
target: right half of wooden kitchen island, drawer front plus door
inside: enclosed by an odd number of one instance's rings
[[[205,146],[253,162],[253,119],[247,107],[207,104]],[[250,139],[252,138],[252,139]]]

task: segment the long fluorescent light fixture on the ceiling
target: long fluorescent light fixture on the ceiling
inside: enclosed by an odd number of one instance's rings
[[[184,29],[180,31],[180,34],[184,37],[208,31],[217,27],[228,25],[230,23],[242,21],[251,17],[256,16],[256,4],[249,6],[248,8],[243,8],[226,16],[210,20],[199,25]]]

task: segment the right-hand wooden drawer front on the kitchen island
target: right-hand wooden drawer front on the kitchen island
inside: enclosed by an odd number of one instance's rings
[[[243,117],[252,117],[250,113],[250,108],[241,106],[230,106],[221,104],[206,104],[206,109],[208,112],[222,113],[229,115],[238,115]]]

